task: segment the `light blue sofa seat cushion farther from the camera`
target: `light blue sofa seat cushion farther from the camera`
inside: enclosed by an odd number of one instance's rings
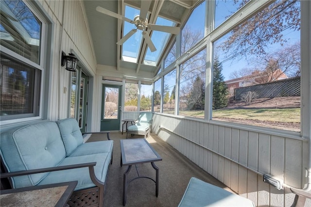
[[[113,140],[86,142],[77,147],[69,156],[109,153],[112,152],[112,149]]]

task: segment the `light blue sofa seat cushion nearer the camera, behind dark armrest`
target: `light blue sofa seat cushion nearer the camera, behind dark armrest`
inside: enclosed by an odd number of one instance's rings
[[[108,173],[107,171],[111,160],[111,153],[112,152],[95,155],[66,157],[60,163],[59,166],[73,165],[87,162],[97,162],[94,167],[95,175],[97,179],[104,182],[106,174]],[[77,169],[51,172],[38,185],[69,182],[74,180],[78,181],[75,190],[95,187],[95,184],[92,182],[89,176],[88,168],[77,168]]]

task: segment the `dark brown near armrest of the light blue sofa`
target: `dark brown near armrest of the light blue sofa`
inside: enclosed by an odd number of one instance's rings
[[[74,164],[74,165],[57,166],[57,167],[52,167],[52,168],[41,168],[41,169],[34,169],[34,170],[28,170],[28,171],[1,173],[0,178],[21,176],[21,175],[28,175],[28,174],[35,174],[35,173],[47,173],[47,172],[53,172],[53,171],[62,171],[62,170],[70,170],[70,169],[88,167],[88,172],[89,172],[89,175],[91,177],[92,182],[98,187],[104,186],[104,183],[102,181],[98,180],[97,177],[95,176],[95,171],[94,171],[95,165],[96,165],[96,162],[88,162],[88,163],[81,163],[81,164]]]

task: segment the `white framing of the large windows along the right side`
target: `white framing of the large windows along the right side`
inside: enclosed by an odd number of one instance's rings
[[[308,8],[310,8],[310,3],[306,1],[300,1],[301,3],[301,97],[305,96],[304,100],[301,98],[301,105],[304,105],[304,107],[300,107],[301,112],[301,129],[299,132],[294,131],[287,131],[287,130],[281,130],[281,129],[274,129],[274,128],[268,128],[268,127],[260,127],[260,126],[253,126],[248,124],[240,124],[240,123],[233,123],[233,122],[225,122],[225,121],[215,121],[211,120],[211,114],[212,114],[212,59],[213,59],[213,42],[227,34],[229,31],[231,31],[236,25],[241,24],[243,21],[248,19],[250,16],[253,16],[254,14],[260,12],[263,8],[269,6],[273,1],[249,1],[245,5],[242,6],[239,10],[237,10],[233,15],[225,19],[225,21],[214,28],[214,7],[215,2],[214,1],[207,1],[207,15],[206,15],[206,34],[205,37],[199,41],[196,45],[190,48],[188,52],[186,52],[183,55],[177,55],[176,60],[170,65],[166,66],[164,69],[165,72],[162,72],[158,76],[156,76],[156,80],[162,78],[166,73],[168,73],[170,70],[177,69],[177,83],[176,84],[176,99],[179,98],[179,82],[180,82],[180,74],[179,74],[179,65],[182,64],[184,61],[186,61],[190,56],[192,56],[194,53],[201,51],[204,47],[206,47],[207,50],[207,59],[206,59],[206,95],[205,95],[205,118],[204,122],[211,123],[211,124],[217,124],[222,125],[226,127],[234,127],[238,129],[243,130],[251,130],[256,131],[259,133],[269,133],[271,135],[276,136],[284,136],[284,137],[290,137],[290,138],[297,138],[297,135],[300,135],[300,137],[308,137],[310,136],[310,113],[311,113],[311,101],[310,101],[310,87],[303,86],[306,83],[310,82],[310,72],[308,71],[311,68],[311,63],[308,58],[308,55],[310,55],[310,21],[309,18],[311,14],[309,14]],[[180,51],[180,35],[177,35],[175,40],[176,41],[176,53]],[[167,54],[169,51],[166,51]],[[304,55],[304,56],[303,56]],[[166,57],[166,56],[165,56]],[[168,70],[168,71],[167,71]],[[163,83],[162,83],[163,85]],[[153,96],[154,97],[154,96]],[[154,101],[152,102],[154,103]],[[176,103],[178,101],[176,100]],[[177,111],[179,111],[178,106],[175,107]],[[159,113],[159,112],[154,112]],[[161,112],[160,112],[161,113]],[[168,115],[167,116],[177,116],[179,117],[178,113],[175,115]],[[182,116],[180,116],[182,117]],[[186,118],[185,119],[195,119],[195,118]],[[198,120],[202,121],[202,120]],[[298,138],[300,139],[300,138]]]

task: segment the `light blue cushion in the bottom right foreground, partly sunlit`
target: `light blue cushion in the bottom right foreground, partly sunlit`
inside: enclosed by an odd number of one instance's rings
[[[191,177],[178,207],[255,207],[247,198]]]

